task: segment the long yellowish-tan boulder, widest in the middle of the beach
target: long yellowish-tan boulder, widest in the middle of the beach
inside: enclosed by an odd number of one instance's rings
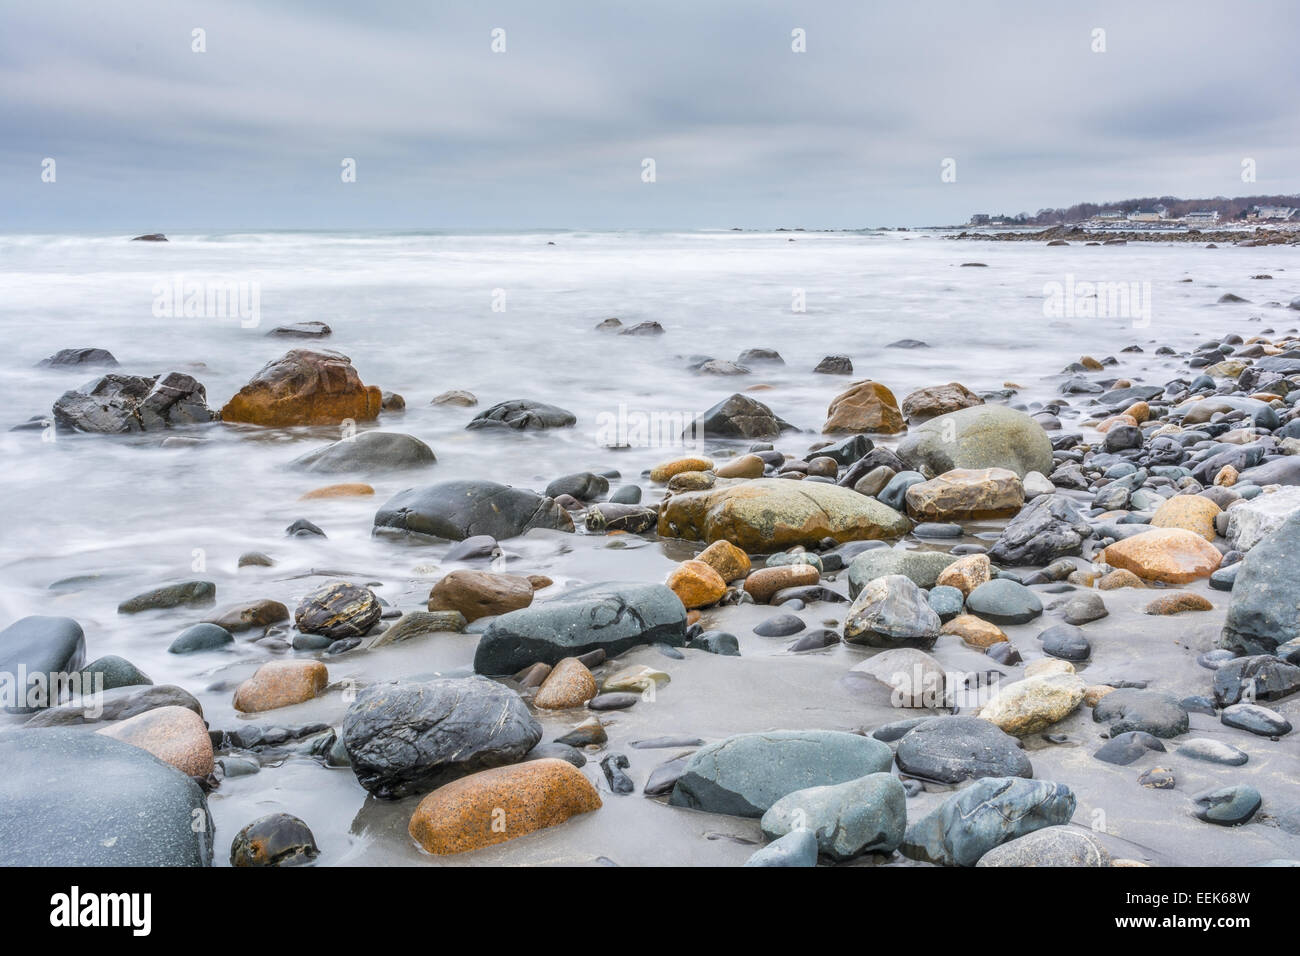
[[[757,479],[664,498],[659,535],[731,541],[759,554],[826,537],[862,541],[900,537],[911,523],[864,494],[819,481]]]

